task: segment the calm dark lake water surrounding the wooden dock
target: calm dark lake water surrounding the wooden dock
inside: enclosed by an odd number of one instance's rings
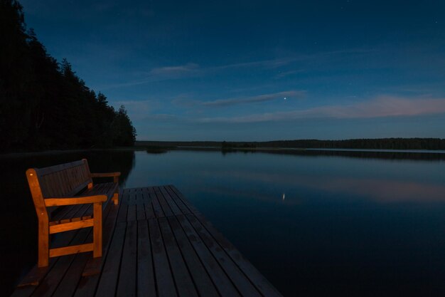
[[[0,157],[2,287],[36,261],[26,168],[82,157],[124,187],[175,184],[284,296],[445,294],[445,155],[393,152]]]

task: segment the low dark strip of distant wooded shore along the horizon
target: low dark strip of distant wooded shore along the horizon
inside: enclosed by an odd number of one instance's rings
[[[254,150],[258,148],[294,149],[366,149],[366,150],[445,150],[441,138],[363,138],[349,140],[273,140],[264,142],[225,141],[136,141],[136,147],[181,148],[213,147],[222,150]]]

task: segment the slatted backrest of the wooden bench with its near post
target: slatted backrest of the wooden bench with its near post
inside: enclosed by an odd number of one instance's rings
[[[43,199],[48,197],[71,197],[92,183],[90,167],[86,159],[26,170],[36,212],[47,214]]]

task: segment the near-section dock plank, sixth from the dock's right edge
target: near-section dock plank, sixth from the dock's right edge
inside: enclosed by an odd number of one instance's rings
[[[149,231],[158,294],[159,296],[165,297],[178,296],[166,250],[163,246],[161,231],[156,219],[149,220]]]

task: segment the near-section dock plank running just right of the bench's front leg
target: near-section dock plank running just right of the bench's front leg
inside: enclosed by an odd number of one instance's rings
[[[125,222],[118,222],[116,224],[107,259],[105,259],[102,275],[100,276],[99,284],[97,286],[97,292],[95,294],[97,297],[114,296],[114,293],[116,292],[126,228],[127,223]]]

